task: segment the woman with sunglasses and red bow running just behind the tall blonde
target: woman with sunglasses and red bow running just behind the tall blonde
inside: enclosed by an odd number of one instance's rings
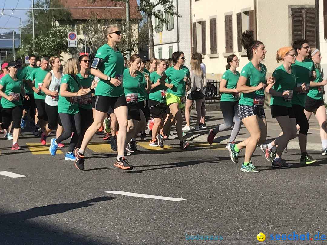
[[[80,71],[77,73],[77,77],[82,84],[83,89],[87,89],[92,87],[93,89],[96,87],[96,82],[94,80],[94,75],[90,74],[90,58],[87,55],[82,55],[78,58]],[[82,125],[81,125],[81,134],[79,136],[78,142],[76,147],[79,148],[82,144],[82,140],[84,138],[84,134],[86,130],[92,125],[93,123],[93,112],[92,112],[92,92],[91,90],[86,95],[82,95],[78,97],[78,108],[79,114],[82,118]]]

